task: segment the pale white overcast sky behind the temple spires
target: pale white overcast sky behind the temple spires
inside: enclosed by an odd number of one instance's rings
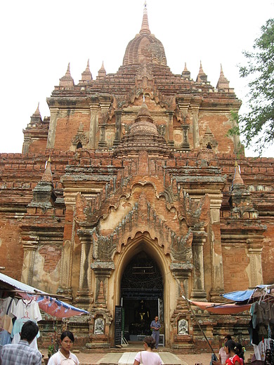
[[[93,79],[102,62],[115,73],[126,45],[141,29],[143,0],[7,0],[0,3],[1,133],[0,152],[21,152],[22,129],[70,62],[74,83],[89,59]],[[273,18],[274,0],[147,0],[150,31],[162,41],[167,65],[181,74],[185,62],[196,79],[200,60],[216,86],[220,64],[245,101],[246,80],[237,65],[252,50],[261,26]],[[252,150],[247,156],[254,155]],[[263,156],[274,157],[274,147]]]

